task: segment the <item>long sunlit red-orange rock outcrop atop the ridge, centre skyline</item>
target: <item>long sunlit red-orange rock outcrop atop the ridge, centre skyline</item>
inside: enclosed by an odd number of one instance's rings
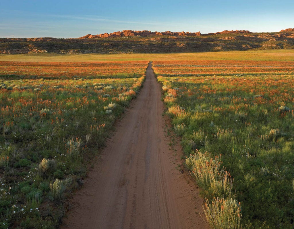
[[[87,34],[86,36],[79,37],[78,39],[91,39],[91,38],[106,38],[106,37],[134,37],[134,36],[163,36],[163,35],[171,35],[171,36],[200,36],[200,32],[190,33],[190,32],[151,32],[147,30],[143,31],[133,31],[133,30],[123,30],[113,33],[101,33],[97,35]]]

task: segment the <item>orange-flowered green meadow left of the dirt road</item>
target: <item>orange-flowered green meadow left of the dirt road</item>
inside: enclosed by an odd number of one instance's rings
[[[56,228],[147,61],[0,62],[0,228]]]

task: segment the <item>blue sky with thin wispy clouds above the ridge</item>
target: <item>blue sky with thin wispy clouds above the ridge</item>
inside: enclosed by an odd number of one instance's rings
[[[294,28],[294,1],[3,0],[0,37],[81,37],[131,30],[277,32]]]

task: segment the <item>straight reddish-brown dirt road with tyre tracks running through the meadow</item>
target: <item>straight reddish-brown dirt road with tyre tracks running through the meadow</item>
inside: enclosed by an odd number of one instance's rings
[[[169,149],[162,113],[149,64],[144,87],[76,192],[61,228],[208,228],[198,214],[198,190],[176,169],[181,155]]]

